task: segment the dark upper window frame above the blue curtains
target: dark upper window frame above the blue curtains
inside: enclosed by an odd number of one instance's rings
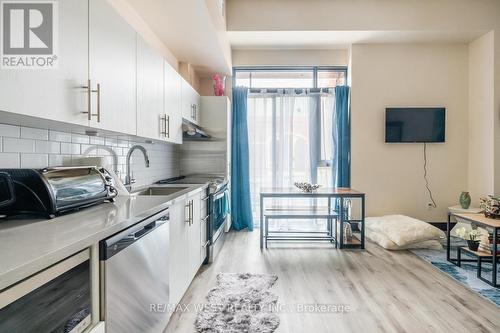
[[[235,66],[233,67],[233,80],[232,86],[236,87],[236,74],[238,72],[265,72],[265,71],[283,71],[283,72],[307,72],[311,71],[313,73],[313,87],[312,88],[294,88],[294,89],[318,89],[318,72],[319,71],[338,71],[343,72],[345,79],[347,81],[348,69],[347,66]],[[346,82],[347,83],[347,82]],[[252,88],[252,75],[250,74],[250,87]],[[267,88],[267,89],[286,89],[289,87],[282,88]],[[266,89],[266,88],[258,88]]]

